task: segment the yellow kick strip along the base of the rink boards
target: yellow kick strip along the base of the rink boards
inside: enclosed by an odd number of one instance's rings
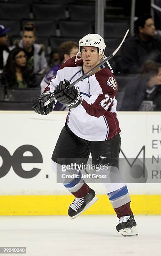
[[[107,195],[84,215],[115,214]],[[16,195],[0,196],[0,215],[67,215],[72,195]],[[161,195],[131,195],[131,209],[135,214],[161,214]]]

